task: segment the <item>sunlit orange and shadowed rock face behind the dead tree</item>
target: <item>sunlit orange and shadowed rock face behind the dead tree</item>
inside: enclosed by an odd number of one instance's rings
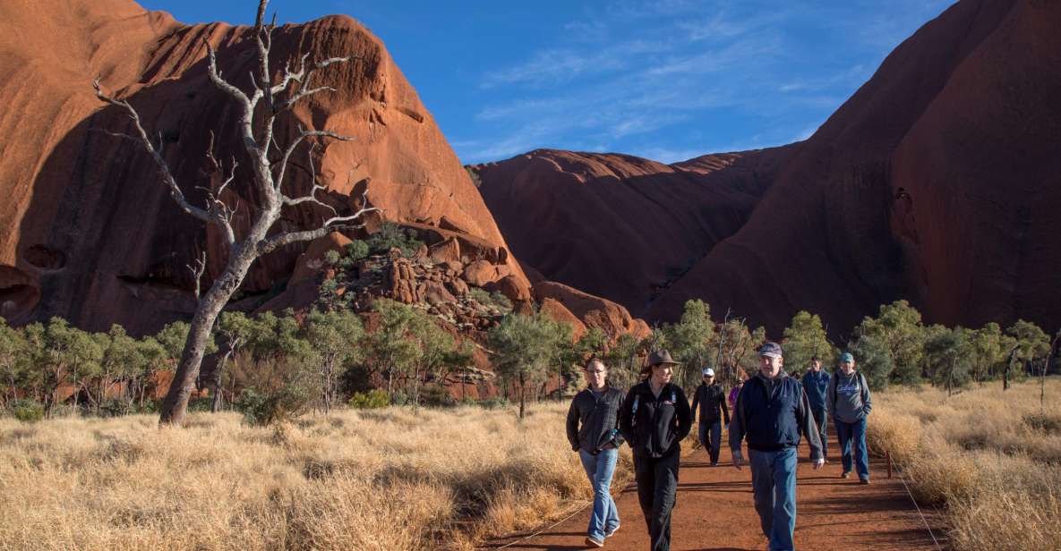
[[[0,314],[14,323],[62,316],[90,330],[117,322],[134,333],[155,331],[194,308],[186,266],[206,250],[209,285],[226,262],[225,247],[213,229],[176,209],[137,145],[90,131],[129,131],[127,118],[104,108],[90,83],[101,75],[104,89],[128,100],[149,131],[161,135],[166,158],[196,203],[205,198],[197,188],[218,184],[204,159],[214,132],[218,157],[241,166],[224,194],[239,205],[239,234],[254,214],[254,191],[241,172],[249,162],[234,131],[234,106],[207,79],[203,41],[218,49],[223,74],[246,90],[256,63],[250,33],[224,23],[184,25],[131,0],[60,4],[0,3],[0,131],[10,137],[0,155]],[[315,95],[276,125],[281,145],[299,125],[354,137],[316,144],[316,183],[328,186],[318,195],[350,212],[351,197],[368,183],[369,202],[387,219],[466,238],[479,246],[470,247],[473,254],[523,278],[467,172],[380,40],[348,17],[284,25],[274,35],[273,67],[300,49],[311,61],[360,57],[320,72],[315,84],[336,91]],[[299,152],[299,165],[308,153]],[[284,183],[292,195],[310,185],[309,172],[297,167]],[[278,226],[319,224],[325,211],[302,207],[285,211]],[[261,259],[239,296],[267,292],[292,274],[305,249]]]

